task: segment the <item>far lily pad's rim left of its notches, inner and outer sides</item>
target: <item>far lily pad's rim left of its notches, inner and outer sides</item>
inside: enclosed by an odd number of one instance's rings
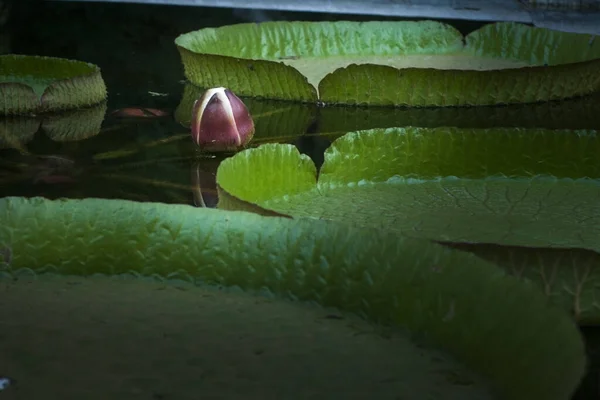
[[[197,86],[314,102],[320,77],[353,56],[445,52],[461,47],[462,36],[433,21],[265,22],[201,29],[175,44],[187,79]]]

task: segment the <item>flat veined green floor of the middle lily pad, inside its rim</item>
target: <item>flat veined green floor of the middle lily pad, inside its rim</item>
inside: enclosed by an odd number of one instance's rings
[[[600,251],[598,182],[393,179],[320,186],[263,205],[298,217],[348,221],[438,241]]]

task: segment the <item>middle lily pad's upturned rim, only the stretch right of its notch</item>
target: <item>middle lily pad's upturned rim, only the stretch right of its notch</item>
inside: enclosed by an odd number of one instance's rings
[[[390,128],[357,131],[327,151],[321,183],[419,179],[600,178],[594,130]]]

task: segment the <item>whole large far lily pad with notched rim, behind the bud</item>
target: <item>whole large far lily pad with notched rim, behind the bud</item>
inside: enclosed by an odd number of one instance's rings
[[[243,96],[460,106],[600,90],[600,42],[517,23],[463,37],[434,21],[267,22],[201,29],[175,43],[192,83]]]

